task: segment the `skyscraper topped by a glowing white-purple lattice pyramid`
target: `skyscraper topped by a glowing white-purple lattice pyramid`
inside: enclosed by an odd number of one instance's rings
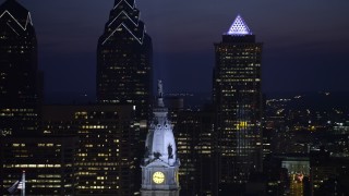
[[[242,184],[251,170],[262,168],[262,46],[240,15],[222,41],[215,44],[213,96],[220,184]]]

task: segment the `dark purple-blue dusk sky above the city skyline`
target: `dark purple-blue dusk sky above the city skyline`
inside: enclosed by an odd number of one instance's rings
[[[4,0],[1,0],[2,3]],[[94,99],[96,47],[113,0],[19,0],[33,17],[47,97]],[[167,93],[212,90],[214,42],[241,14],[264,42],[263,91],[349,91],[348,0],[137,0]]]

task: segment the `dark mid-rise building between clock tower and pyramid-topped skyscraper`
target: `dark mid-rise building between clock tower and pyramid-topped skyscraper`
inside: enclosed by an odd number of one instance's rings
[[[182,166],[179,170],[181,193],[215,195],[214,113],[209,110],[183,110],[177,115],[173,131]]]

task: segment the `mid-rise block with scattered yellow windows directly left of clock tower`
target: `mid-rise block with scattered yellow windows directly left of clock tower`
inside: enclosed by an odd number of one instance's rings
[[[79,137],[75,195],[134,195],[140,191],[137,124],[132,106],[44,106],[45,135]]]

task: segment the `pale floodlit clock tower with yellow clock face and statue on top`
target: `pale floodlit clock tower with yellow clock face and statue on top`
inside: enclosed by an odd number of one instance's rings
[[[177,148],[168,110],[163,100],[163,84],[158,82],[157,107],[153,110],[145,142],[142,168],[142,196],[179,196]]]

